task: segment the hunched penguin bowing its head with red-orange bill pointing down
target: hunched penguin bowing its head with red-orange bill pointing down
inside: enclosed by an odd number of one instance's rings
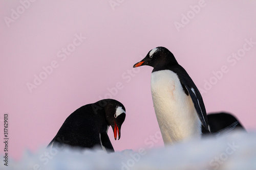
[[[124,106],[113,99],[105,99],[80,107],[65,120],[51,145],[70,145],[71,147],[102,147],[114,152],[108,136],[109,126],[114,131],[115,140],[120,139],[121,125],[125,119]]]

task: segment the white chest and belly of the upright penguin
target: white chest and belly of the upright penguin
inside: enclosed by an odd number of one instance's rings
[[[177,74],[170,70],[152,73],[151,92],[164,144],[201,136],[201,122],[190,95],[183,91]]]

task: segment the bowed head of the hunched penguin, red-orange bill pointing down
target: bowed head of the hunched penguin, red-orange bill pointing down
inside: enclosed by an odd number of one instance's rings
[[[121,126],[125,119],[125,108],[120,102],[110,99],[105,106],[106,120],[114,131],[115,140],[120,139]]]

